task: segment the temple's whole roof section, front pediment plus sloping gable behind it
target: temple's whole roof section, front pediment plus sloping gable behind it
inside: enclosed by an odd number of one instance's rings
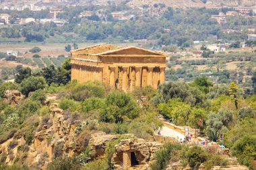
[[[159,55],[162,56],[162,52],[156,52],[152,50],[146,50],[143,48],[138,48],[135,46],[129,47],[120,47],[113,46],[110,44],[98,44],[94,46],[88,46],[86,48],[79,48],[77,50],[72,50],[72,54],[91,54],[91,55],[100,55],[100,56],[108,56],[108,55]]]

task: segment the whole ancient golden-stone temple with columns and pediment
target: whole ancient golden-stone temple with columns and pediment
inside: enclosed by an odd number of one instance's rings
[[[137,47],[98,44],[71,51],[71,80],[103,81],[113,89],[132,91],[164,83],[166,55]]]

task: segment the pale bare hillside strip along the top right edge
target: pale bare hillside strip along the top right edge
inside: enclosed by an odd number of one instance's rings
[[[167,7],[253,7],[255,0],[131,0],[131,7],[141,7],[148,4],[150,7],[157,3],[164,3]]]

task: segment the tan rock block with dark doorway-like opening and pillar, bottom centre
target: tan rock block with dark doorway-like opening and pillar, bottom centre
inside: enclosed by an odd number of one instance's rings
[[[154,161],[154,153],[163,146],[160,142],[148,142],[141,138],[121,140],[115,146],[112,163],[115,169],[148,169]]]

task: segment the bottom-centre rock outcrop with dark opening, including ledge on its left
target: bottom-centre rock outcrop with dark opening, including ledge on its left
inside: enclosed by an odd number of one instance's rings
[[[104,155],[106,144],[111,140],[116,140],[120,135],[97,133],[92,134],[89,145],[91,152],[96,157]],[[160,142],[150,142],[141,138],[135,138],[134,134],[123,134],[129,139],[121,140],[115,145],[115,154],[112,163],[115,169],[148,169],[151,161],[154,161],[154,153],[163,144]]]

